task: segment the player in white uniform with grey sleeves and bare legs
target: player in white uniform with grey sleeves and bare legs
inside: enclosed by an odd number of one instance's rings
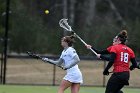
[[[66,70],[67,74],[64,76],[58,93],[64,93],[65,89],[71,87],[71,93],[78,93],[80,84],[83,83],[82,73],[77,65],[80,62],[79,56],[75,49],[72,47],[74,43],[74,36],[65,36],[61,40],[61,45],[64,50],[61,53],[60,58],[57,61],[43,58],[44,61],[55,63],[58,66],[62,66]]]

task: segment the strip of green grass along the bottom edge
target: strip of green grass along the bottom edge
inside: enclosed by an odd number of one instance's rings
[[[57,86],[0,85],[0,93],[57,93]],[[79,93],[104,93],[102,87],[81,87]],[[140,93],[140,89],[124,88],[124,93]],[[70,93],[67,89],[65,93]]]

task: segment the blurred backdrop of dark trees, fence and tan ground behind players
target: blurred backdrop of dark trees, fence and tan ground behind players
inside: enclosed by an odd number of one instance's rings
[[[63,50],[61,38],[69,35],[58,24],[62,18],[68,18],[72,29],[97,49],[107,48],[126,29],[127,45],[139,61],[139,9],[139,0],[0,0],[1,84],[60,83],[65,72],[29,58],[26,51],[57,59]],[[78,39],[74,47],[82,60],[83,85],[105,86],[106,62],[97,60]],[[130,86],[140,87],[138,73],[132,72]]]

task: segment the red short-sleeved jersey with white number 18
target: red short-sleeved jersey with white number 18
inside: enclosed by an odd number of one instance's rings
[[[129,63],[131,58],[135,58],[135,54],[131,48],[124,44],[112,45],[107,48],[110,53],[115,53],[113,72],[129,71]]]

